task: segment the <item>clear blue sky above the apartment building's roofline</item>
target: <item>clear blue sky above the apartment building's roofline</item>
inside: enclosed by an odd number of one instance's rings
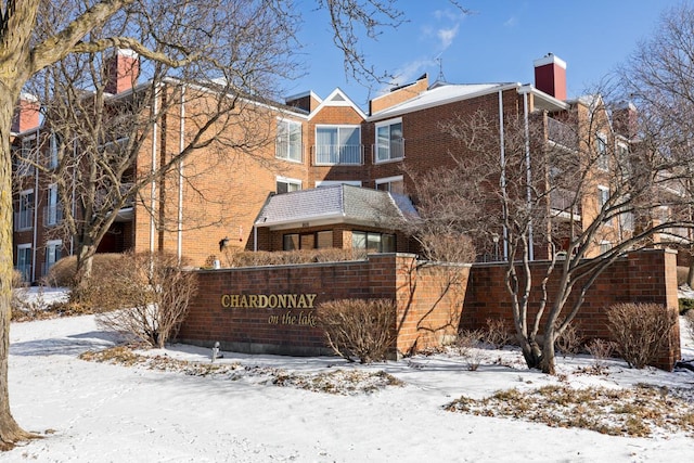
[[[409,23],[361,42],[369,62],[399,75],[398,83],[424,73],[452,83],[532,82],[532,61],[552,52],[567,62],[569,98],[624,63],[639,40],[653,35],[669,0],[460,0],[473,10],[463,16],[447,0],[401,0]],[[305,5],[300,39],[307,75],[290,82],[288,94],[313,90],[325,98],[343,89],[362,108],[369,90],[345,76],[343,59],[332,43],[324,12]],[[377,95],[377,86],[371,95]]]

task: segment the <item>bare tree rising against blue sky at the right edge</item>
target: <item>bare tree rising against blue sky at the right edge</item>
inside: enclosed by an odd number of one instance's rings
[[[640,130],[658,150],[681,160],[683,181],[692,196],[694,179],[694,8],[682,3],[666,10],[659,25],[618,72],[625,100],[640,111]],[[673,246],[689,252],[687,283],[694,287],[694,240],[690,230],[671,235]]]

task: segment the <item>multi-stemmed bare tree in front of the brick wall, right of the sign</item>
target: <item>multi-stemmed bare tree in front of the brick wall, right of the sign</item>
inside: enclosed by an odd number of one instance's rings
[[[441,125],[460,142],[451,152],[453,183],[468,192],[463,201],[472,213],[460,227],[481,240],[501,236],[516,338],[528,366],[547,373],[554,373],[556,339],[600,274],[628,252],[691,226],[677,214],[689,203],[679,159],[648,140],[616,136],[608,123],[594,95],[556,115],[506,116],[503,150],[498,115]],[[549,261],[540,274],[537,259]]]

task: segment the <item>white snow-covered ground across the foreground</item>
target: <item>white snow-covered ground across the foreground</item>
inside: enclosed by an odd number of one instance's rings
[[[694,437],[684,433],[614,437],[444,409],[462,395],[550,384],[648,383],[693,397],[694,373],[686,371],[637,371],[608,360],[607,374],[579,374],[594,361],[577,356],[560,357],[562,374],[548,376],[504,349],[485,351],[477,371],[452,353],[363,366],[223,352],[215,364],[228,366],[226,373],[195,375],[80,360],[81,352],[115,343],[91,316],[13,323],[10,339],[13,414],[43,438],[0,453],[1,462],[694,461]],[[209,349],[190,346],[146,355],[210,363]],[[694,358],[689,337],[683,357]],[[385,371],[404,385],[339,395],[273,384],[284,373],[337,370]]]

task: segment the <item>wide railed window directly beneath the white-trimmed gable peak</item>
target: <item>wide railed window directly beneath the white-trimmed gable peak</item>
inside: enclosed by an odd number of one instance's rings
[[[313,163],[362,164],[361,130],[357,126],[320,126],[316,128]]]

